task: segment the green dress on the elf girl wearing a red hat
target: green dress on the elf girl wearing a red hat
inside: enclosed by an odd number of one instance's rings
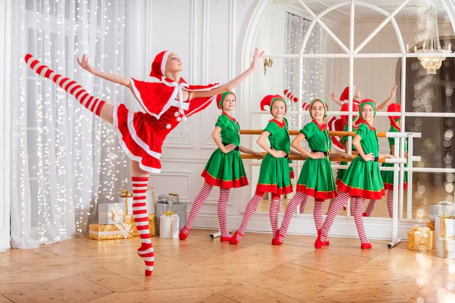
[[[289,155],[291,140],[289,139],[288,123],[272,119],[268,121],[264,131],[268,131],[270,148],[282,150]],[[261,162],[256,192],[271,192],[285,194],[292,192],[290,168],[288,158],[275,158],[266,154]]]

